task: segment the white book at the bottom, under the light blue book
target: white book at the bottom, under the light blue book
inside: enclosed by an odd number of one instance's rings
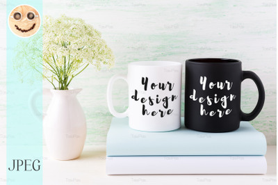
[[[265,174],[265,156],[107,156],[107,175]]]

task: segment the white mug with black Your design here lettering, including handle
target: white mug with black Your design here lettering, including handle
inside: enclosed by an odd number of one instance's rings
[[[128,74],[111,77],[107,88],[108,109],[117,118],[129,117],[129,127],[141,131],[171,131],[181,127],[182,64],[170,61],[129,63]],[[112,89],[117,79],[129,85],[129,108],[117,113]]]

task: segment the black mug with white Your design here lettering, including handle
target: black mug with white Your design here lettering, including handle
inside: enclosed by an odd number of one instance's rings
[[[251,113],[240,109],[240,86],[252,79],[259,99]],[[185,125],[206,132],[238,129],[240,121],[256,118],[263,108],[265,90],[259,77],[241,69],[241,62],[225,58],[195,58],[186,61]]]

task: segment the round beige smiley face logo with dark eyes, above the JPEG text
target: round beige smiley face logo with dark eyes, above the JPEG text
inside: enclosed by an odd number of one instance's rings
[[[40,15],[32,6],[17,6],[10,13],[8,24],[15,35],[27,38],[40,29]]]

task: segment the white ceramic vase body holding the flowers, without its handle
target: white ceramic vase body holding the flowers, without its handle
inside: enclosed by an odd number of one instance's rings
[[[81,89],[44,89],[44,95],[52,96],[47,113],[43,116],[43,130],[47,149],[54,159],[76,159],[83,150],[86,121],[83,109],[76,99],[80,91]]]

